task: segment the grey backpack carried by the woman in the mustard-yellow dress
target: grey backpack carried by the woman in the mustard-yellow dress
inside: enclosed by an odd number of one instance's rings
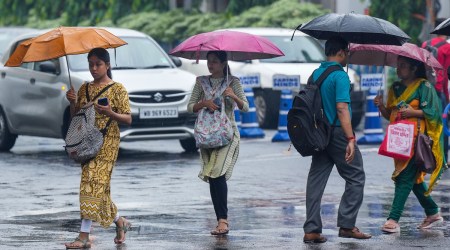
[[[66,152],[75,162],[84,164],[94,158],[103,146],[103,137],[112,119],[109,118],[106,126],[99,130],[95,126],[95,109],[93,102],[115,83],[104,87],[93,99],[89,98],[89,84],[86,84],[86,99],[88,103],[83,106],[70,121],[66,135]]]

